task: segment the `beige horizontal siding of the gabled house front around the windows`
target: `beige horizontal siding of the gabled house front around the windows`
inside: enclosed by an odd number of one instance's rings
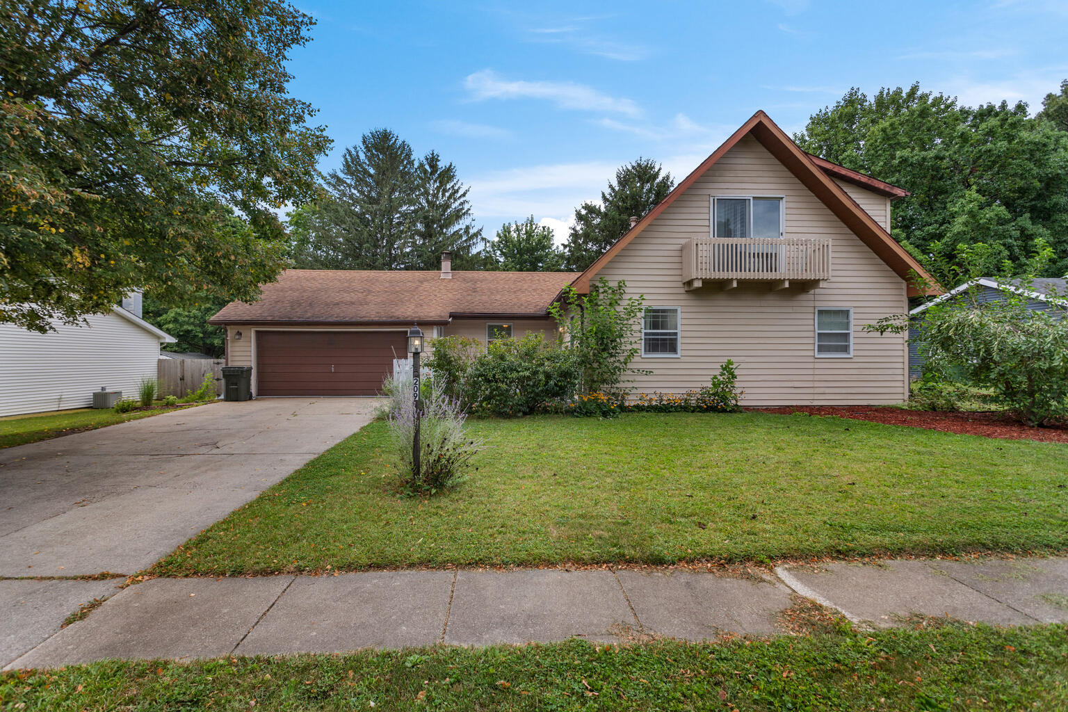
[[[851,195],[869,193],[843,188]],[[766,284],[745,283],[726,291],[714,286],[686,291],[681,243],[709,235],[711,195],[732,194],[785,196],[787,236],[832,239],[831,279],[812,291],[770,291]],[[885,199],[870,196],[854,200],[884,224]],[[701,387],[733,359],[749,406],[889,404],[906,397],[904,336],[863,331],[866,323],[906,311],[905,281],[752,138],[698,178],[598,276],[625,280],[628,291],[644,295],[650,306],[681,308],[681,357],[635,359],[635,368],[651,373],[632,377],[634,393]],[[852,358],[816,358],[817,306],[853,310]]]

